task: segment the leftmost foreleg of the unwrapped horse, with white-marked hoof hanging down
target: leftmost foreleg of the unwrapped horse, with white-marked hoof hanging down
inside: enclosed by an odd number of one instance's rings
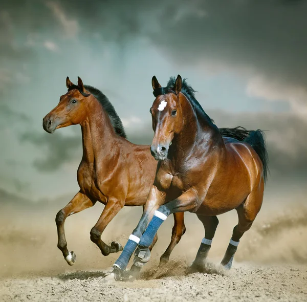
[[[84,209],[92,207],[95,204],[86,195],[78,192],[75,197],[69,202],[67,206],[58,211],[55,218],[55,223],[58,233],[58,248],[63,253],[63,256],[69,265],[74,265],[76,261],[76,254],[67,249],[67,242],[65,239],[64,222],[65,219],[75,213],[78,213]]]

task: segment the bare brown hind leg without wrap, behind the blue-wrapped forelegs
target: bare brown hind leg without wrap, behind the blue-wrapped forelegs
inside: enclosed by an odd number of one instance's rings
[[[168,263],[172,250],[179,243],[185,231],[184,212],[174,213],[174,226],[172,228],[171,241],[164,254],[160,257],[159,266]]]

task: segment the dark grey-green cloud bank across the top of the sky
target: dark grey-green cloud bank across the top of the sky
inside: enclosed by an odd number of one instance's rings
[[[87,42],[95,33],[119,44],[144,36],[179,66],[216,60],[305,87],[306,10],[306,1],[284,0],[14,0],[4,5],[1,51],[17,55],[14,27]]]

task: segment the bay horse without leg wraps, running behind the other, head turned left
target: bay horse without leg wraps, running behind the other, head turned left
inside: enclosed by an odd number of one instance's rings
[[[111,102],[98,89],[78,85],[66,79],[68,92],[60,97],[59,104],[43,118],[43,128],[48,133],[74,124],[81,125],[83,156],[77,171],[80,186],[75,197],[56,215],[58,248],[69,265],[76,261],[76,254],[67,249],[64,221],[72,214],[92,207],[97,200],[105,205],[100,218],[92,228],[91,240],[103,255],[122,250],[117,242],[108,246],[101,234],[108,223],[124,205],[144,205],[155,179],[157,162],[150,155],[149,145],[135,145],[126,139],[120,118]],[[168,261],[174,246],[185,232],[183,213],[174,214],[171,242],[161,256],[161,263]],[[150,249],[155,245],[157,236]]]

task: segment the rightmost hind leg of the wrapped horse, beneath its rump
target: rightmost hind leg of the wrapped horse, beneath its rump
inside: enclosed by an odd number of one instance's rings
[[[237,250],[240,238],[252,226],[262,205],[263,190],[259,188],[252,191],[246,201],[236,208],[238,213],[238,224],[234,227],[232,238],[224,255],[221,265],[225,269],[230,269],[234,254]]]

